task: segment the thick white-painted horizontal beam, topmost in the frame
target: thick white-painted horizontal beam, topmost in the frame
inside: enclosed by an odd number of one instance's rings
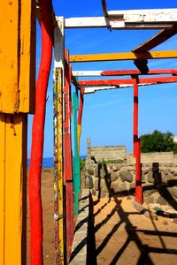
[[[152,29],[173,27],[177,9],[108,11],[104,17],[65,19],[65,28],[112,27],[112,29]]]

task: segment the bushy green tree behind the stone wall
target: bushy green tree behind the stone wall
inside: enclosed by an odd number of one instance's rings
[[[161,133],[155,130],[153,133],[143,134],[140,137],[142,153],[148,152],[177,152],[177,144],[173,141],[173,133]]]

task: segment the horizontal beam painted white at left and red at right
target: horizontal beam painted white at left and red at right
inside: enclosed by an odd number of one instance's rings
[[[144,75],[138,70],[108,70],[108,71],[73,71],[73,76],[123,76],[123,75]],[[150,70],[147,75],[152,74],[177,74],[177,69]]]

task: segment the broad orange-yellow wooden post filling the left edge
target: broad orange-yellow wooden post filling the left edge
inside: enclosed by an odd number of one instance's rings
[[[35,111],[35,0],[0,1],[0,264],[26,264],[27,113]]]

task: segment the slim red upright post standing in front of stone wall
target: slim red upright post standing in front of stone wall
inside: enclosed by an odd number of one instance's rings
[[[138,138],[138,77],[134,78],[134,156],[135,156],[135,201],[142,204],[141,148]]]

